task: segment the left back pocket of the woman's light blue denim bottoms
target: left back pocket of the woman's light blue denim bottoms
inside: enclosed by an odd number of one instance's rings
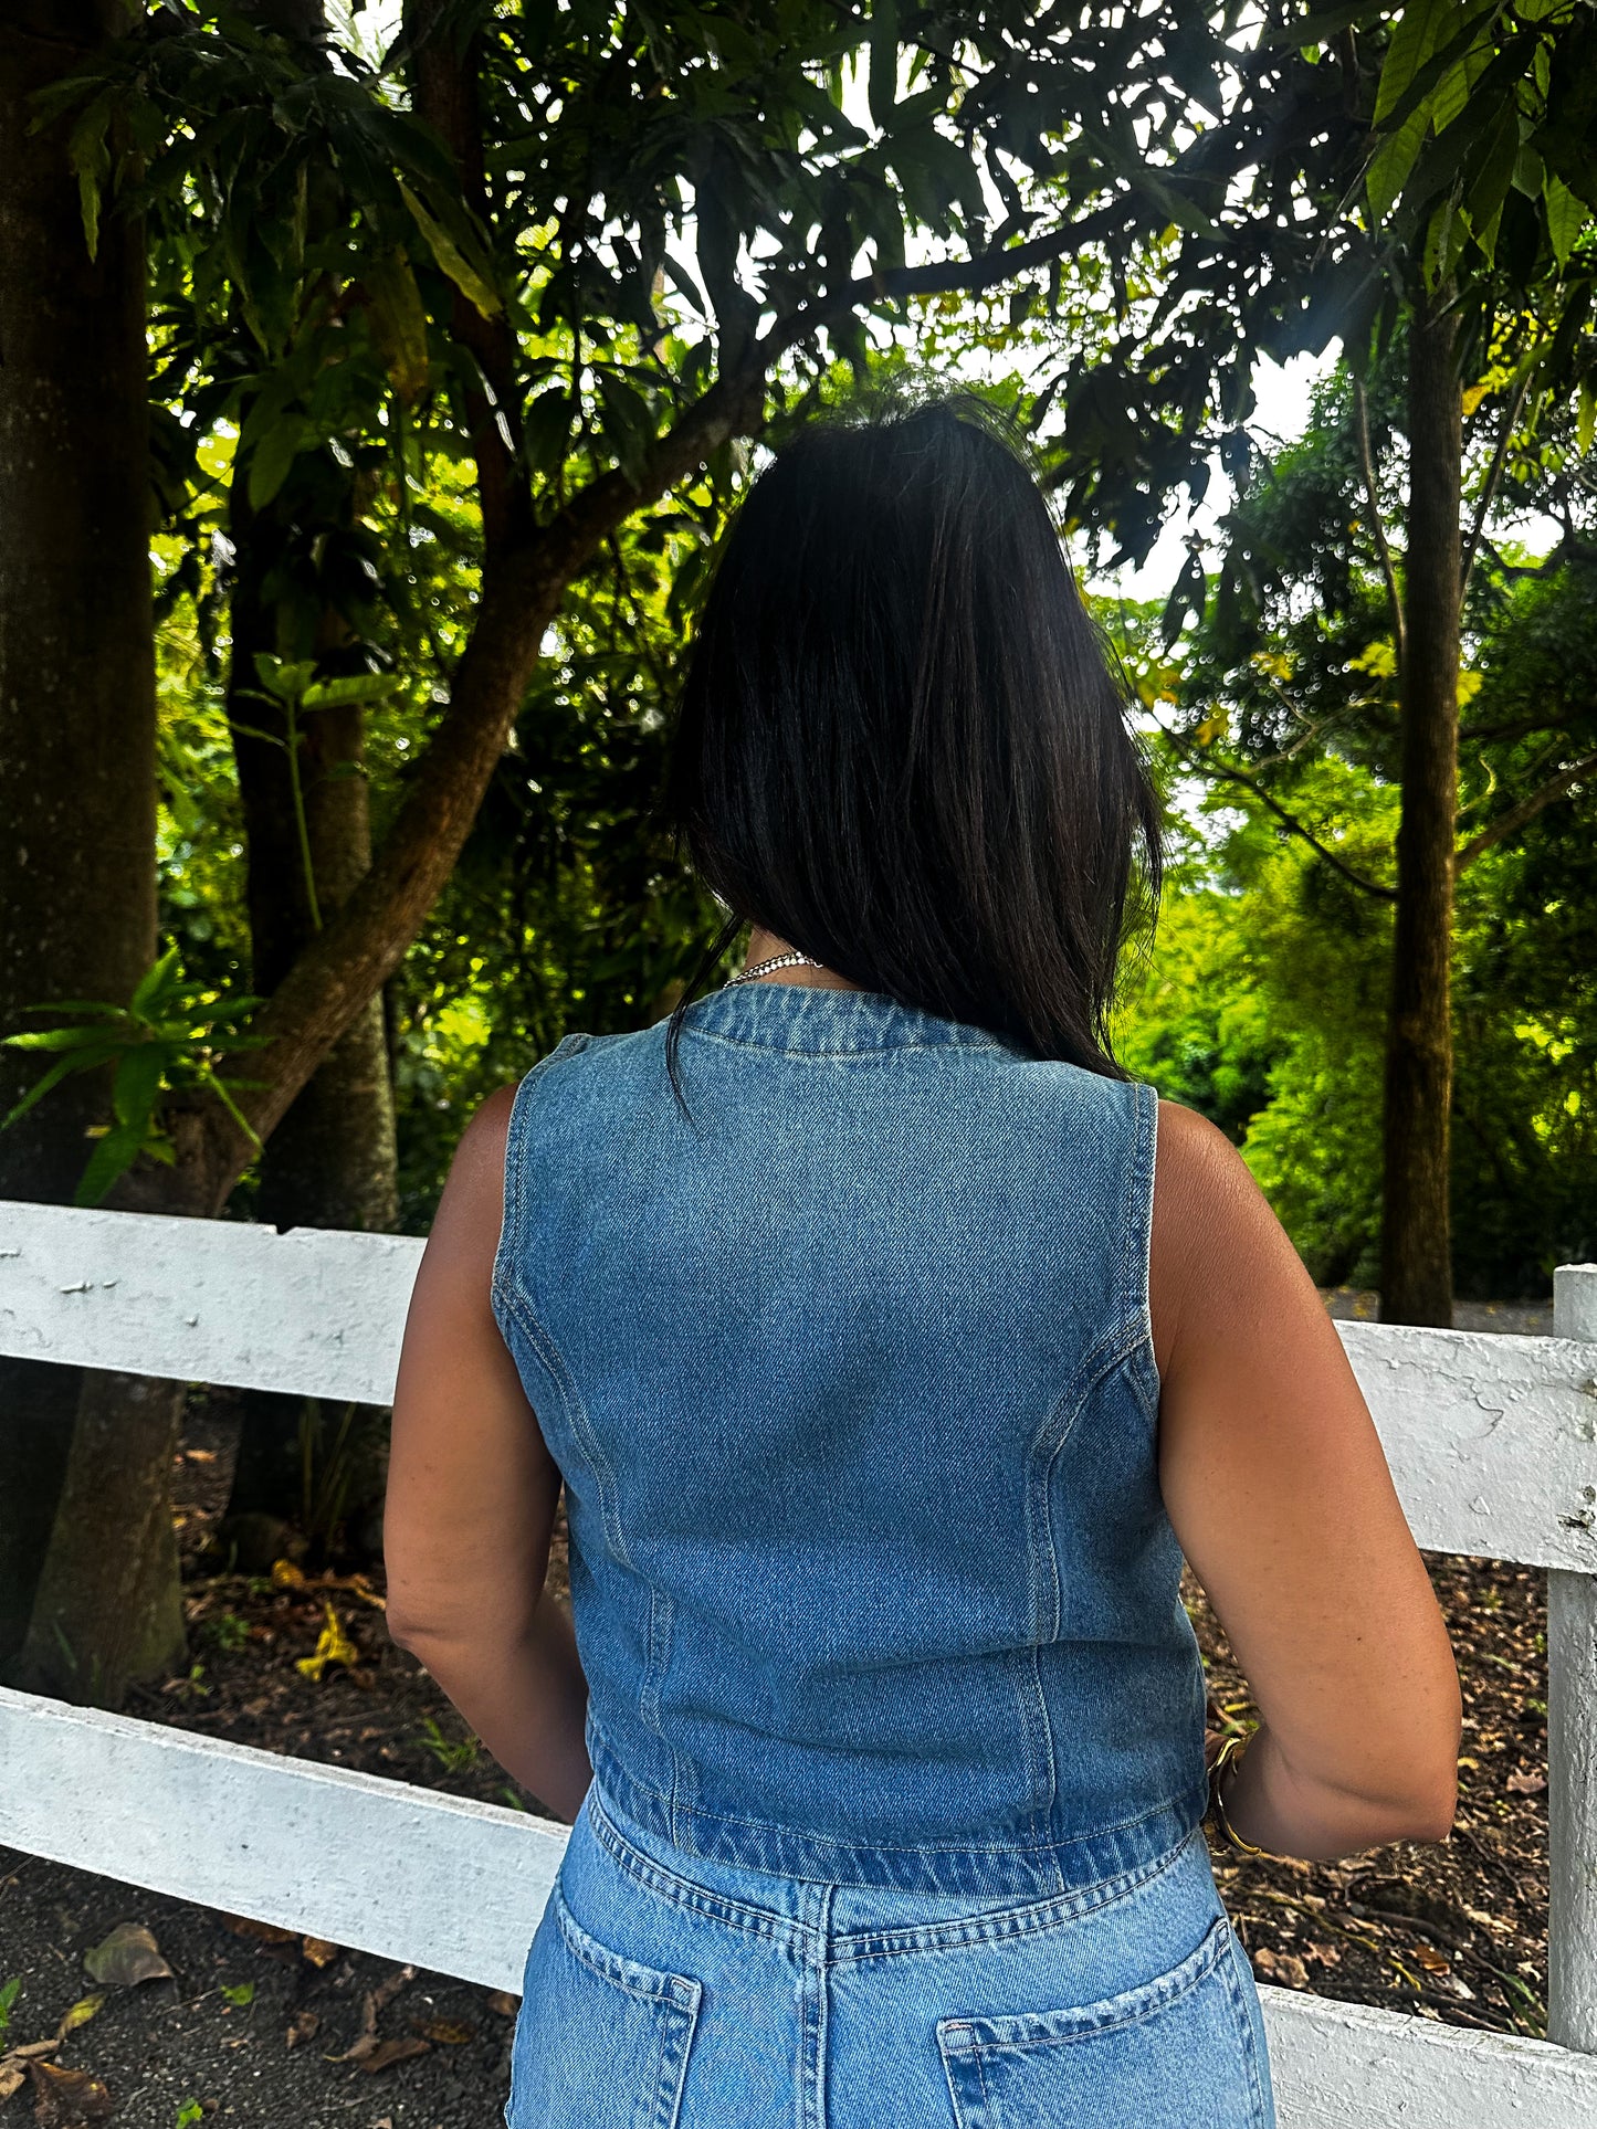
[[[556,1884],[526,1961],[509,2129],[675,2129],[703,1993],[607,1950]]]

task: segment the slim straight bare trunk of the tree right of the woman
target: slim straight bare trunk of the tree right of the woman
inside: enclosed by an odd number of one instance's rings
[[[1410,317],[1403,813],[1386,1020],[1380,1316],[1452,1324],[1452,881],[1459,813],[1463,407],[1456,324]]]

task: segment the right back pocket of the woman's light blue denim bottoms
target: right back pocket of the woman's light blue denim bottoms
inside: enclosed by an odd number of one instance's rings
[[[1224,1916],[1141,1988],[1071,2010],[941,2018],[960,2129],[1269,2129]]]

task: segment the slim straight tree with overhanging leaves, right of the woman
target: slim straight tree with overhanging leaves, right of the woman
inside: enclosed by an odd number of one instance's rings
[[[1365,370],[1407,349],[1407,511],[1388,554],[1403,815],[1386,1016],[1382,1314],[1450,1322],[1452,879],[1465,566],[1461,415],[1497,364],[1503,436],[1527,400],[1591,405],[1597,15],[1588,0],[1284,4],[1207,134],[1216,168],[1101,364],[1060,379],[1058,481],[1073,519],[1152,545],[1163,502],[1201,496],[1212,453],[1248,464],[1256,356],[1341,336]],[[1371,475],[1373,479],[1373,475]],[[1491,483],[1488,483],[1491,485]],[[1471,534],[1473,539],[1473,534]],[[1401,564],[1401,566],[1399,566]],[[1169,626],[1201,611],[1195,554]]]

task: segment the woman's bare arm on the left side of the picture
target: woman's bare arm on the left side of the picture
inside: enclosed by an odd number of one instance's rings
[[[560,1471],[492,1309],[515,1088],[466,1126],[405,1322],[383,1552],[388,1631],[566,1822],[592,1778],[571,1614],[543,1586]]]

